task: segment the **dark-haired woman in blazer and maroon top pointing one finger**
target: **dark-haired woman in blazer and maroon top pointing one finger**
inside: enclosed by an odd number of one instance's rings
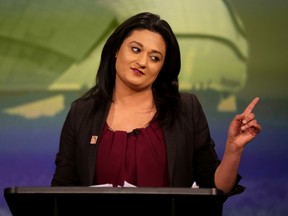
[[[219,160],[202,107],[180,93],[180,51],[152,13],[123,22],[103,47],[96,85],[63,125],[52,186],[125,182],[138,187],[216,187],[238,193],[243,149],[261,131],[255,98],[232,120]]]

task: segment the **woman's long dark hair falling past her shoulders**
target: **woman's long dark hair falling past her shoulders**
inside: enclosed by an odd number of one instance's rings
[[[158,77],[152,84],[152,91],[158,122],[162,126],[170,125],[180,109],[178,86],[181,67],[180,49],[170,25],[157,14],[149,12],[136,14],[115,29],[103,47],[96,84],[83,97],[95,97],[96,107],[112,101],[116,78],[115,54],[123,41],[136,29],[147,29],[158,33],[165,41],[165,61]]]

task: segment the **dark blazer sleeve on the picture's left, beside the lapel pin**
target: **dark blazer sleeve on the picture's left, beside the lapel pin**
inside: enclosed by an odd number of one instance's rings
[[[91,184],[91,169],[93,170],[93,160],[96,157],[96,153],[93,154],[95,145],[90,145],[92,125],[95,120],[94,109],[93,98],[78,99],[71,104],[60,134],[52,186]],[[99,116],[102,116],[101,113]],[[91,154],[93,157],[90,157]]]

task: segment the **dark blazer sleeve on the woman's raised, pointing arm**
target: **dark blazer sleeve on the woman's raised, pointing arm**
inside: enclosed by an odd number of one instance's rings
[[[216,187],[214,174],[221,160],[215,151],[215,143],[211,138],[208,121],[198,98],[193,94],[186,96],[185,103],[189,110],[188,117],[193,125],[193,170],[194,180],[199,187]],[[238,174],[237,181],[228,196],[244,191],[245,187],[239,185],[241,176]]]

